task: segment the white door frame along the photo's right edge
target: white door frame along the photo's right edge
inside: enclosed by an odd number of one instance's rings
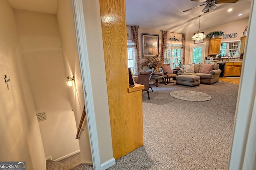
[[[248,21],[228,170],[256,169],[256,3]],[[254,9],[255,8],[255,9]]]

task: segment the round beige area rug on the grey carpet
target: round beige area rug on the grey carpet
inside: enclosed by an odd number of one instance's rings
[[[212,97],[209,94],[190,91],[190,90],[177,90],[174,92],[170,92],[170,95],[176,99],[186,100],[191,102],[203,102],[203,101],[208,101],[212,99]]]

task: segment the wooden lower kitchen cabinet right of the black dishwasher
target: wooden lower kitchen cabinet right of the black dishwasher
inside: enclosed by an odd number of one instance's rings
[[[242,62],[227,62],[224,67],[224,77],[227,76],[240,76]]]

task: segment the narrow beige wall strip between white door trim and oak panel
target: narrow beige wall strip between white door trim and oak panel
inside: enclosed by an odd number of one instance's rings
[[[100,2],[82,0],[100,163],[113,158]]]

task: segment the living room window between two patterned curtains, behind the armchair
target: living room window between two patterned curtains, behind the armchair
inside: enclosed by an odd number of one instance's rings
[[[164,63],[170,64],[171,68],[179,66],[181,62],[182,45],[167,44],[164,53]]]

